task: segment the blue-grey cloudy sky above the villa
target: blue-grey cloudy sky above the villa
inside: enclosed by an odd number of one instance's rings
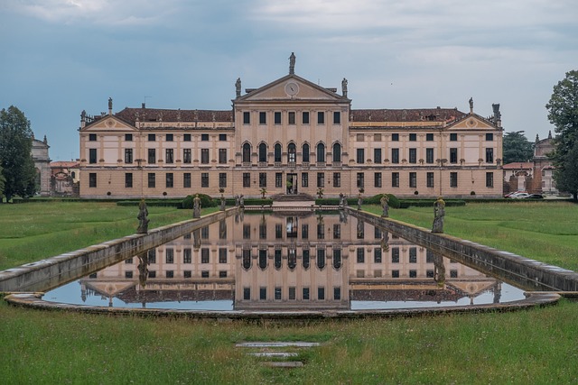
[[[52,160],[79,156],[79,115],[125,106],[228,109],[235,80],[288,72],[353,108],[501,105],[506,132],[545,138],[545,104],[578,69],[575,0],[0,0],[0,108]]]

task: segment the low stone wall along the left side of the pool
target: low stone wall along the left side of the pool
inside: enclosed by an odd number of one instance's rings
[[[133,234],[105,243],[89,246],[76,252],[27,263],[20,267],[0,271],[0,291],[47,291],[71,280],[78,280],[116,261],[123,261],[139,252],[167,243],[213,222],[238,212],[229,208],[177,224],[166,225],[148,234]]]

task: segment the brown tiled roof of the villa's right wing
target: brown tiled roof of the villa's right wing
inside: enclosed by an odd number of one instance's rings
[[[453,122],[465,115],[457,108],[351,110],[353,122]]]

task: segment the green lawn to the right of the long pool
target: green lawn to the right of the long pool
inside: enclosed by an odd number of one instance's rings
[[[378,206],[365,207],[381,213]],[[432,207],[390,210],[391,218],[432,228]],[[578,205],[570,202],[474,203],[446,207],[444,232],[578,270]]]

